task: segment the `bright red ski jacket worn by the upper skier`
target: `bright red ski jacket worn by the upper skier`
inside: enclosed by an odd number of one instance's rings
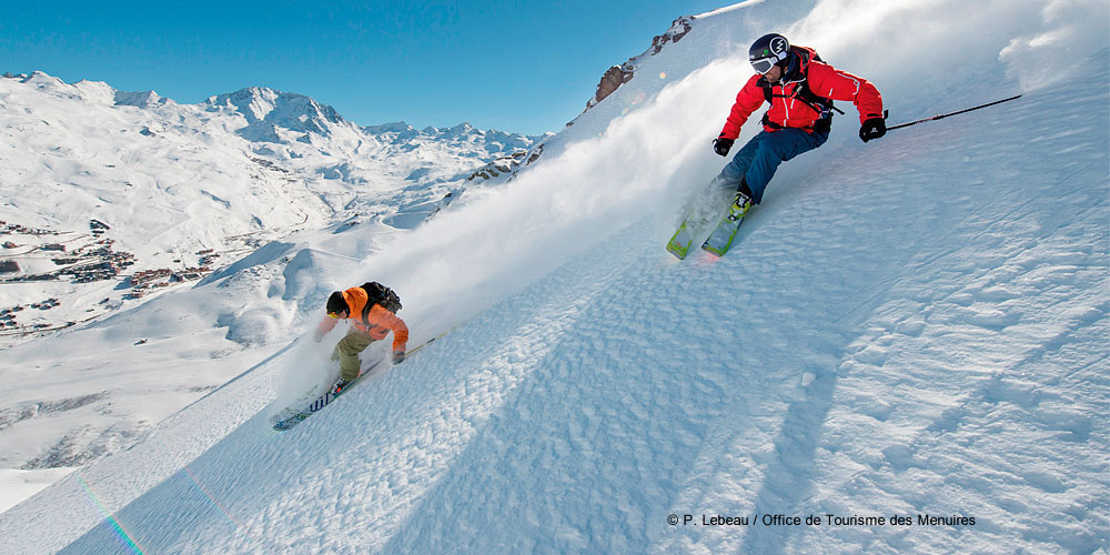
[[[751,75],[736,94],[736,102],[725,121],[720,137],[725,139],[739,137],[740,128],[748,121],[748,117],[767,100],[764,89],[768,87],[771,92],[771,103],[764,120],[764,129],[768,132],[781,128],[814,131],[814,124],[823,114],[819,110],[815,110],[815,105],[810,105],[811,102],[807,103],[798,98],[803,87],[808,87],[813,94],[820,98],[851,101],[859,112],[860,123],[870,118],[882,117],[882,97],[874,84],[815,60],[816,53],[813,49],[793,47],[790,50],[790,56],[797,57],[799,67],[774,84],[768,84],[760,74]]]

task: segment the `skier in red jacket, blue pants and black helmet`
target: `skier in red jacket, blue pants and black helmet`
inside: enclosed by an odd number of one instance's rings
[[[859,111],[859,138],[864,141],[886,134],[882,97],[866,80],[821,62],[809,48],[791,47],[781,34],[766,34],[748,50],[756,74],[736,94],[736,103],[713,149],[728,155],[740,127],[764,102],[770,109],[763,117],[764,129],[747,142],[717,175],[718,184],[735,186],[729,206],[735,218],[763,200],[767,183],[778,165],[814,150],[829,138],[834,100],[850,101]],[[844,113],[844,112],[840,112]]]

